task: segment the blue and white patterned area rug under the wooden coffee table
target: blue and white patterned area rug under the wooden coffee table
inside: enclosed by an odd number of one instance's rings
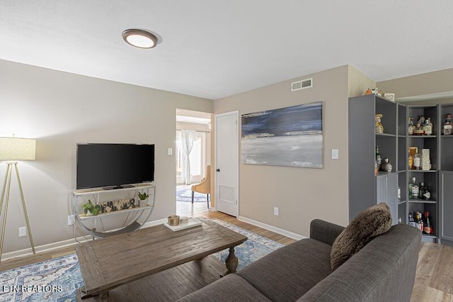
[[[234,254],[239,259],[238,269],[283,246],[222,220],[212,221],[248,237],[246,242],[234,248]],[[217,252],[214,256],[225,262],[228,250]],[[0,272],[0,301],[72,302],[76,301],[76,289],[83,284],[79,261],[76,254],[71,254]]]

